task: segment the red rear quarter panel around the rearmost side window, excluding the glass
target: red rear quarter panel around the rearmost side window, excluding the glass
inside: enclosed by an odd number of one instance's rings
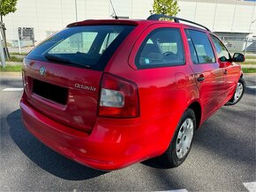
[[[135,56],[148,33],[159,27],[177,26],[155,24],[147,28],[137,27],[127,38],[128,43],[123,44],[118,50],[118,58],[114,55],[106,68],[106,71],[127,78],[138,85],[139,122],[142,126],[136,134],[144,134],[148,138],[147,147],[154,149],[152,151],[157,149],[159,154],[169,146],[184,110],[193,100],[198,100],[198,90],[189,63],[138,70]],[[183,29],[181,33],[184,39]],[[128,51],[131,51],[130,56]],[[187,53],[185,43],[184,53]],[[188,61],[189,55],[185,54],[185,57]]]

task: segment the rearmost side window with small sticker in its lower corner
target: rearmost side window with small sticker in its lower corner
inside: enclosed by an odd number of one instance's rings
[[[147,35],[136,55],[138,68],[184,64],[184,47],[179,29],[159,28]]]

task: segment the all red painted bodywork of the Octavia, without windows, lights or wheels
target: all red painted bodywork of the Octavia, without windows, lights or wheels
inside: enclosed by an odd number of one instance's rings
[[[235,63],[193,64],[184,33],[184,27],[189,26],[145,20],[90,20],[70,26],[102,24],[136,26],[111,56],[104,71],[25,60],[26,85],[20,100],[23,122],[35,137],[67,158],[95,169],[113,170],[159,156],[168,148],[187,107],[194,102],[200,105],[201,124],[235,92],[240,66]],[[141,43],[148,33],[162,27],[180,29],[184,65],[139,70],[135,57]],[[45,77],[39,75],[41,66],[47,70]],[[224,70],[228,70],[229,75],[224,76]],[[104,73],[138,86],[139,117],[97,115]],[[200,75],[206,80],[198,82]],[[60,105],[35,94],[33,79],[67,88],[67,104]],[[93,86],[95,91],[77,89],[75,84]]]

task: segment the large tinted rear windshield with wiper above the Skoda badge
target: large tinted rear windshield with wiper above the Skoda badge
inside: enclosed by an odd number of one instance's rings
[[[134,26],[75,26],[41,42],[28,59],[103,70]]]

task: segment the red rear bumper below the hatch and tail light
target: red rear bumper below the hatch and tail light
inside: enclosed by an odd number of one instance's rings
[[[65,157],[94,169],[119,169],[160,155],[167,148],[161,142],[156,143],[159,137],[155,137],[154,131],[147,131],[134,120],[117,127],[106,123],[106,119],[98,119],[88,134],[39,113],[24,96],[20,109],[22,120],[34,137]]]

